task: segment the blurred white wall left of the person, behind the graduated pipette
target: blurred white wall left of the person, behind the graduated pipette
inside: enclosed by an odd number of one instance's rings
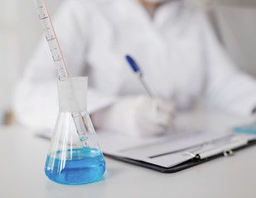
[[[46,0],[53,13],[63,0]],[[41,26],[33,0],[0,0],[0,123],[12,90],[36,48]]]

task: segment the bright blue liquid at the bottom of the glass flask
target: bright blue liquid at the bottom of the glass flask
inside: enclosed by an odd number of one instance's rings
[[[61,158],[65,154],[66,158]],[[95,148],[75,148],[47,156],[46,177],[62,184],[84,184],[96,181],[105,172],[103,154]]]

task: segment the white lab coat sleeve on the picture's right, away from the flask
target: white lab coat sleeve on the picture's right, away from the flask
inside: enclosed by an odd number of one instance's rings
[[[256,106],[256,81],[239,71],[225,54],[205,16],[201,16],[207,65],[208,105],[239,115],[251,115]]]

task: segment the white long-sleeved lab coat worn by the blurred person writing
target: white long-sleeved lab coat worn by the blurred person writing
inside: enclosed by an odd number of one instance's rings
[[[234,68],[208,21],[195,7],[171,1],[154,17],[136,0],[65,2],[54,20],[71,77],[88,76],[88,111],[120,97],[147,94],[129,68],[131,54],[156,96],[181,108],[204,94],[208,104],[249,115],[256,106],[256,82]],[[52,129],[58,115],[55,66],[46,40],[17,85],[17,120]]]

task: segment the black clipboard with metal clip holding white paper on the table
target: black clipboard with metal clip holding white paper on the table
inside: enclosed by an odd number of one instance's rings
[[[189,135],[189,137],[187,137],[187,135]],[[214,132],[205,133],[204,131],[185,132],[177,135],[170,135],[168,137],[156,138],[155,140],[143,139],[141,142],[140,139],[134,137],[123,137],[123,141],[119,143],[118,140],[120,141],[120,139],[122,139],[122,135],[102,132],[98,134],[98,139],[105,156],[164,173],[179,172],[188,167],[194,167],[200,163],[206,163],[215,158],[229,157],[240,149],[248,148],[256,144],[256,135],[235,133],[216,134]],[[112,140],[110,141],[110,139]],[[109,141],[112,144],[111,147],[108,146],[109,143],[107,142]],[[128,144],[123,145],[125,141],[128,141]],[[131,141],[134,142],[131,144]],[[149,152],[149,155],[146,154],[149,159],[144,158],[145,156],[143,156],[143,152],[147,150],[147,148],[157,148],[158,144],[168,144],[168,142],[170,144],[173,142],[176,142],[177,144],[181,142],[189,144],[185,147],[183,144],[181,147],[174,150],[172,149],[171,151],[164,148],[164,152],[160,152],[160,149],[158,154],[154,155],[152,155],[152,152]],[[176,146],[172,148],[175,147]],[[140,151],[142,152],[141,154],[139,154]],[[136,152],[138,153],[136,154]],[[157,158],[166,157],[168,161],[168,158],[173,158],[173,155],[184,155],[186,158],[184,158],[184,160],[178,160],[179,158],[177,158],[176,161],[172,160],[170,161],[172,163],[168,166],[167,163],[157,162]],[[150,160],[150,158],[156,160]]]

